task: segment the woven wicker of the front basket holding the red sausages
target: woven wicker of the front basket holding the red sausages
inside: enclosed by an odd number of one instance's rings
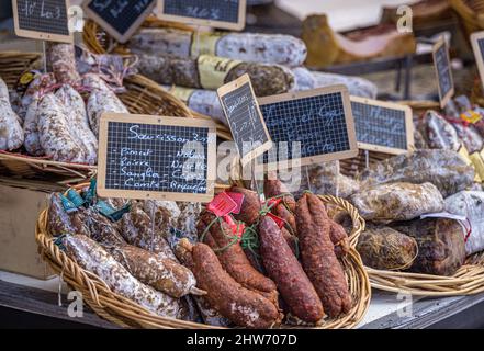
[[[322,200],[337,206],[341,211],[349,210],[348,213],[354,223],[351,233],[352,246],[350,252],[341,261],[353,298],[353,307],[346,316],[326,320],[317,328],[353,328],[364,317],[371,298],[371,287],[367,272],[363,269],[359,253],[353,247],[359,235],[364,229],[364,220],[344,200],[333,196],[322,196]],[[52,235],[47,233],[47,210],[42,212],[38,218],[35,239],[42,258],[47,261],[55,272],[61,275],[67,284],[81,292],[86,303],[104,319],[125,328],[217,329],[209,325],[158,317],[136,303],[113,293],[101,279],[81,269],[54,244]],[[283,327],[302,328],[301,326]]]

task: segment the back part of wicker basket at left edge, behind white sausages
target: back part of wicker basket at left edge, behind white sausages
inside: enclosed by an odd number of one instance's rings
[[[9,88],[13,88],[19,78],[29,69],[38,68],[41,54],[21,52],[0,53],[0,77]]]

